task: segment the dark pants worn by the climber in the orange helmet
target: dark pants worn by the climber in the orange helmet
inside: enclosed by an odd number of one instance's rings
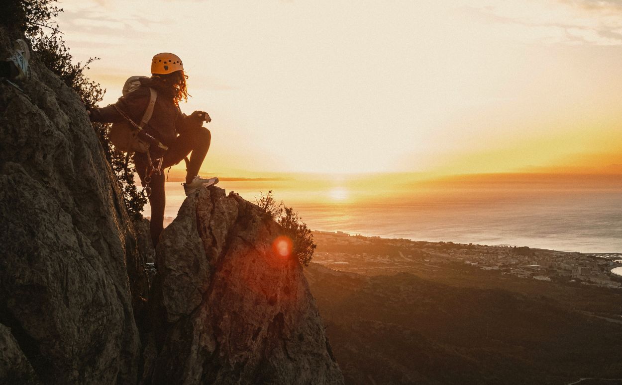
[[[210,130],[205,127],[197,127],[196,129],[188,129],[170,143],[169,149],[164,153],[164,160],[162,161],[162,172],[160,174],[151,174],[151,196],[149,196],[149,205],[151,206],[151,240],[156,247],[160,233],[164,228],[164,207],[166,206],[166,196],[164,194],[164,169],[169,168],[172,165],[177,165],[183,160],[190,152],[190,162],[186,170],[188,177],[192,178],[198,175],[198,170],[203,164],[205,155],[210,149],[211,133]],[[156,160],[154,166],[157,166]],[[136,153],[134,155],[134,165],[136,165],[136,171],[141,178],[141,184],[145,186],[145,176],[149,170],[147,167],[149,162],[147,161],[147,155],[144,153]]]

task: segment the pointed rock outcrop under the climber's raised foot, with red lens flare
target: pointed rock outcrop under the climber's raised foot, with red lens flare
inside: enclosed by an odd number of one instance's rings
[[[162,233],[144,383],[341,384],[295,256],[279,225],[218,187],[188,197]]]

